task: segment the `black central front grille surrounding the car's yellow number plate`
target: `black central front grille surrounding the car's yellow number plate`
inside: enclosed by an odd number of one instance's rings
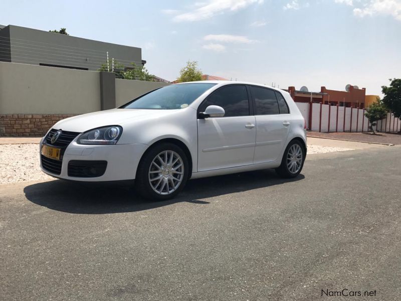
[[[53,160],[41,155],[41,161],[42,161],[42,167],[45,170],[47,170],[52,174],[60,175],[64,152],[67,146],[71,143],[71,141],[74,140],[75,137],[78,136],[80,133],[63,130],[57,141],[52,143],[52,137],[55,132],[57,132],[57,129],[52,128],[47,134],[44,142],[48,145],[61,148],[60,160]]]

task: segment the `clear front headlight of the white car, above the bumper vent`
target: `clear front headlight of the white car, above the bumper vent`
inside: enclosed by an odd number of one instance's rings
[[[122,133],[118,125],[94,128],[78,136],[78,144],[109,145],[116,144]]]

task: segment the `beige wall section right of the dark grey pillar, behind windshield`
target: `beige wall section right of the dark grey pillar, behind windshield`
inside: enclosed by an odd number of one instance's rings
[[[116,79],[116,106],[119,107],[149,91],[169,85],[168,83]]]

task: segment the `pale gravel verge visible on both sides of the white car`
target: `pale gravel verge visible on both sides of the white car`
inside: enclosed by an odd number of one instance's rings
[[[308,145],[308,155],[352,150],[352,148]],[[39,144],[0,145],[0,184],[54,179],[40,170]]]

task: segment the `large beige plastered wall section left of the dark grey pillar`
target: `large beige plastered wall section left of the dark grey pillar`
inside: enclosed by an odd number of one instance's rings
[[[99,110],[99,72],[0,62],[0,114]]]

